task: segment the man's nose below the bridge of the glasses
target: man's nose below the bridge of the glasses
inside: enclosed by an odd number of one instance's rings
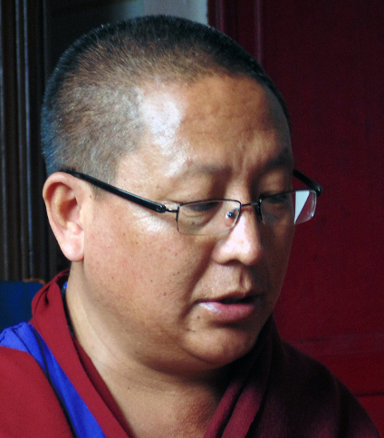
[[[216,261],[229,263],[238,260],[245,266],[253,266],[263,257],[263,243],[254,207],[242,209],[235,227],[216,245]]]

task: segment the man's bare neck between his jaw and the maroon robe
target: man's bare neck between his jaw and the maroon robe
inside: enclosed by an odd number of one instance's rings
[[[90,319],[72,280],[66,299],[74,335],[109,387],[132,436],[203,436],[226,390],[228,367],[194,370],[136,360],[113,332]]]

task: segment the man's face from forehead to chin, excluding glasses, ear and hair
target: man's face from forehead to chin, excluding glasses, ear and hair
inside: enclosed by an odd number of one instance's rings
[[[146,133],[120,163],[121,189],[169,208],[291,189],[287,122],[260,84],[220,76],[148,84],[141,111]],[[172,372],[226,365],[250,350],[271,315],[292,239],[293,227],[266,226],[250,208],[227,234],[183,235],[174,214],[106,194],[85,234],[88,315],[141,364]]]

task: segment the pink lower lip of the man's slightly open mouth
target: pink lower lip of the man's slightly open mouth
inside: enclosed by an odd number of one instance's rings
[[[254,316],[257,297],[246,303],[224,304],[220,301],[203,301],[199,305],[220,323],[235,323]]]

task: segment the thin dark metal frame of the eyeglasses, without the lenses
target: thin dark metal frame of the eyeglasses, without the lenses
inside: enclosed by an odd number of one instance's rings
[[[68,173],[75,178],[79,178],[80,180],[90,182],[91,184],[93,184],[96,187],[99,187],[102,190],[109,191],[110,193],[113,193],[114,195],[117,195],[120,198],[123,198],[124,200],[130,200],[131,202],[134,202],[135,204],[138,204],[141,207],[144,207],[146,209],[151,209],[152,211],[156,211],[157,213],[166,213],[166,212],[176,213],[176,221],[177,222],[178,222],[178,210],[180,209],[180,207],[182,207],[183,205],[187,205],[187,204],[195,204],[198,202],[205,202],[206,201],[206,200],[197,200],[197,201],[193,201],[193,202],[184,202],[184,203],[181,203],[178,205],[178,209],[168,209],[168,207],[166,207],[164,204],[161,204],[159,202],[155,202],[153,200],[147,200],[145,198],[141,198],[138,195],[130,193],[129,191],[126,191],[126,190],[119,189],[118,187],[112,186],[112,185],[108,184],[107,182],[97,180],[96,178],[93,178],[90,175],[87,175],[85,173],[78,172],[76,170],[59,170],[59,171],[62,171],[64,173]],[[321,196],[322,186],[320,184],[318,184],[314,180],[311,180],[311,178],[307,177],[301,171],[296,170],[296,169],[293,169],[293,176],[295,178],[297,178],[297,180],[300,180],[301,182],[303,182],[311,190],[314,190],[318,197]],[[291,190],[291,191],[294,191],[294,190]],[[287,193],[287,192],[283,192],[283,193]],[[276,193],[276,195],[280,195],[283,193]],[[257,215],[260,218],[262,218],[260,205],[261,205],[263,200],[264,200],[264,198],[261,198],[257,202],[249,202],[247,204],[243,204],[240,201],[238,201],[240,204],[240,212],[241,212],[241,209],[243,209],[244,207],[253,206],[256,208]],[[240,216],[240,212],[239,212],[239,216]]]

